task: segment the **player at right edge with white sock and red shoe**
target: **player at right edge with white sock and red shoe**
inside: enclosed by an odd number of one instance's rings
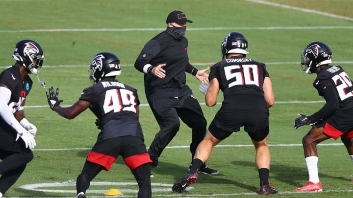
[[[352,81],[341,66],[329,65],[332,51],[322,42],[308,44],[302,53],[302,68],[308,74],[316,73],[313,83],[326,100],[321,110],[310,116],[299,114],[294,128],[311,125],[303,137],[303,147],[309,181],[294,191],[322,191],[318,175],[316,145],[329,138],[341,140],[353,160],[353,92]],[[316,123],[316,124],[315,124]]]

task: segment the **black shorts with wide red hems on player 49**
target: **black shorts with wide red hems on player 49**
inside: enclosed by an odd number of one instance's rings
[[[87,161],[99,164],[107,171],[119,155],[122,155],[131,171],[143,164],[152,162],[142,138],[128,135],[103,139],[102,136],[101,132],[87,157]]]

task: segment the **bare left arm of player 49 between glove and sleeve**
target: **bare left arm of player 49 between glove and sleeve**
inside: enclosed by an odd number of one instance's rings
[[[53,110],[57,112],[59,115],[63,116],[67,119],[74,119],[77,115],[79,115],[82,111],[89,108],[91,105],[90,102],[85,100],[78,100],[73,106],[63,108],[60,106],[55,106]]]

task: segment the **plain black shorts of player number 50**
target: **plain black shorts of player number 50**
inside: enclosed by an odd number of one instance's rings
[[[266,105],[263,97],[252,94],[227,99],[208,130],[214,137],[223,140],[244,126],[253,140],[262,141],[269,134],[269,112]]]

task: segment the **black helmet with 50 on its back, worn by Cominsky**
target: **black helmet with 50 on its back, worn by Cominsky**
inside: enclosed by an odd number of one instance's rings
[[[223,40],[221,44],[221,55],[222,59],[227,58],[227,54],[237,53],[244,54],[244,57],[248,52],[248,40],[240,32],[230,32]]]

